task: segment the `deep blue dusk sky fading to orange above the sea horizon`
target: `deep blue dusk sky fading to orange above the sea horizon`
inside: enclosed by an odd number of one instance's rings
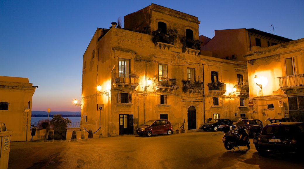
[[[32,111],[81,111],[73,100],[81,100],[82,57],[96,29],[151,3],[198,17],[208,38],[238,28],[304,38],[303,0],[1,0],[0,76],[38,86]]]

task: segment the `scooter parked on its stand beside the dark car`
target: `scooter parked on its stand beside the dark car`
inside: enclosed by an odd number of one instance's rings
[[[223,126],[221,131],[225,133],[223,143],[226,150],[234,150],[234,147],[238,147],[240,150],[240,146],[247,146],[247,148],[250,149],[249,134],[245,126],[240,126],[238,128],[238,133],[229,131],[229,126]]]

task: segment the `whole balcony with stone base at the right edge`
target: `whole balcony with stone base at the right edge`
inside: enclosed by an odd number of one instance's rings
[[[304,93],[304,74],[279,77],[280,89],[285,94]]]

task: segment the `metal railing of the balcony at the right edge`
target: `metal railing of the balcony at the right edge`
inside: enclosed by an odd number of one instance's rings
[[[304,74],[279,77],[280,88],[304,86]]]

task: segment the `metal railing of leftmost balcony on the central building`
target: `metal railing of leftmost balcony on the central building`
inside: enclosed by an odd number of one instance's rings
[[[137,75],[113,73],[112,83],[124,83],[130,85],[138,85],[139,77]]]

